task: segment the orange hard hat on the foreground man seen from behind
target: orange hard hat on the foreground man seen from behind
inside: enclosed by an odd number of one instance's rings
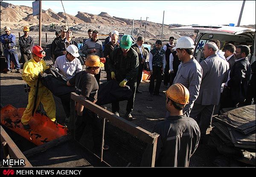
[[[166,96],[178,104],[189,103],[189,90],[182,84],[176,83],[166,90]]]

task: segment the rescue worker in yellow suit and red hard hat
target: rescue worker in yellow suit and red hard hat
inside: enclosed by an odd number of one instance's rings
[[[26,81],[26,83],[30,86],[29,91],[29,99],[26,110],[23,113],[21,118],[21,123],[24,126],[24,129],[30,129],[29,121],[31,120],[32,111],[35,103],[35,93],[36,93],[36,85],[38,82],[38,74],[43,73],[48,67],[46,66],[45,61],[43,60],[45,56],[45,51],[39,45],[35,45],[32,47],[32,56],[33,58],[27,61],[23,67],[22,79]],[[44,106],[44,110],[47,113],[47,116],[55,121],[55,102],[50,90],[44,87],[41,82],[39,82],[38,87],[38,97],[36,100],[36,107],[39,106],[40,102]]]

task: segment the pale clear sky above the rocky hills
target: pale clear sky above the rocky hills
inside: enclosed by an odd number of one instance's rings
[[[3,2],[32,7],[33,0],[3,0]],[[255,2],[255,0],[245,2],[240,25],[255,24]],[[165,11],[164,24],[224,25],[234,23],[237,25],[243,1],[63,0],[62,3],[66,13],[74,16],[78,11],[90,14],[107,12],[115,17],[135,20],[140,20],[140,17],[145,20],[146,17],[149,17],[148,21],[162,23],[163,11]],[[60,0],[43,0],[42,8],[43,10],[51,8],[56,13],[64,11]]]

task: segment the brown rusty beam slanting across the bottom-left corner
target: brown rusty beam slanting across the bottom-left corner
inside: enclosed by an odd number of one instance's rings
[[[25,167],[32,167],[31,163],[29,163],[29,160],[27,160],[17,145],[13,142],[12,138],[10,138],[10,136],[1,126],[1,143],[4,141],[7,143],[10,159],[24,159]]]

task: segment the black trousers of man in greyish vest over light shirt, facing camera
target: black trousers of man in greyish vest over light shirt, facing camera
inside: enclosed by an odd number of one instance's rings
[[[156,87],[154,87],[154,80],[157,79]],[[153,75],[150,78],[149,93],[159,94],[159,89],[162,82],[162,67],[153,66]]]

